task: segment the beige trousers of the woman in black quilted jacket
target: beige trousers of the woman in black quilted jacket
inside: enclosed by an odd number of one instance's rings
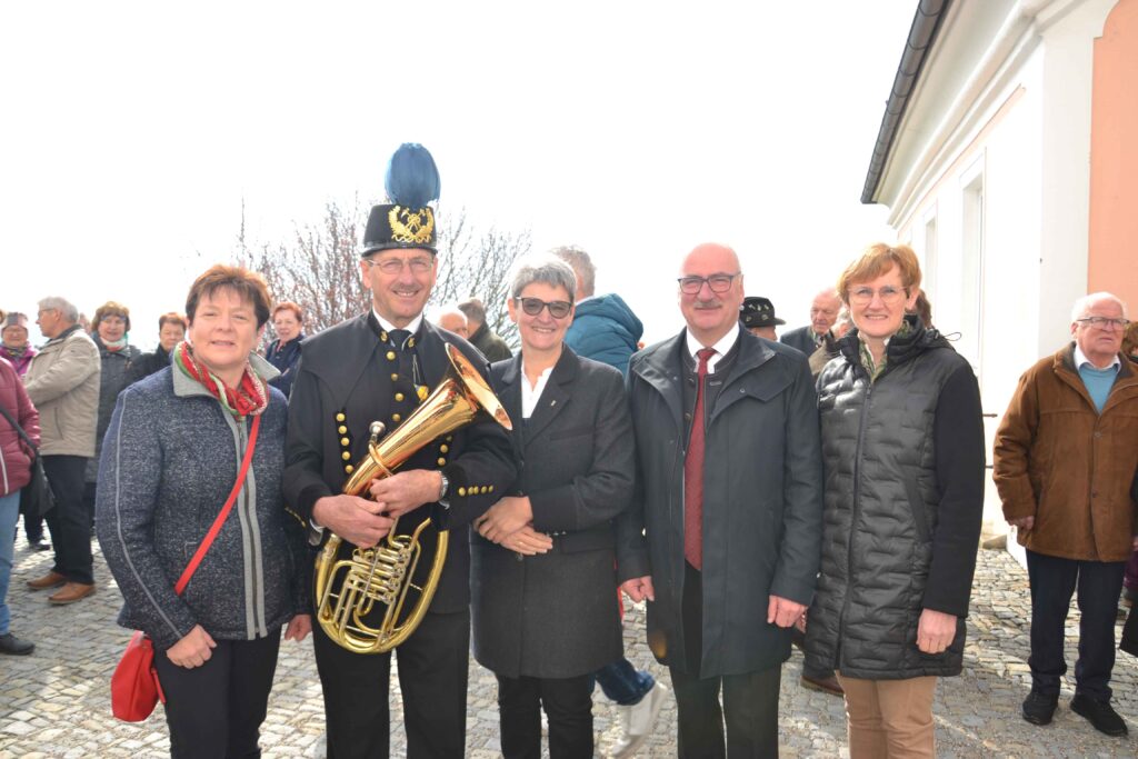
[[[865,680],[838,676],[846,691],[850,759],[933,759],[935,677]]]

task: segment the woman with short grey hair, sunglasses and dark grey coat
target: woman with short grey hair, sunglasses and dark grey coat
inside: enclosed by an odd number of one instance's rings
[[[622,654],[612,519],[635,477],[620,372],[564,346],[572,270],[523,262],[509,302],[521,354],[490,371],[520,477],[475,523],[475,658],[498,680],[502,753],[593,756],[592,673]]]

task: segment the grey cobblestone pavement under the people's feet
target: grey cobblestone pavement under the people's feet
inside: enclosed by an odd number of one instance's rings
[[[168,751],[160,708],[147,723],[127,725],[110,716],[108,678],[129,633],[114,624],[119,595],[96,555],[99,592],[77,604],[53,608],[47,593],[24,581],[50,568],[50,553],[31,553],[20,536],[8,602],[13,632],[36,643],[31,657],[0,657],[0,759],[31,757],[162,757]],[[1096,733],[1066,707],[1063,691],[1055,721],[1033,727],[1019,715],[1030,687],[1026,574],[1006,553],[982,551],[968,620],[965,671],[941,680],[937,692],[938,753],[942,757],[1135,757],[1138,756],[1138,662],[1120,653],[1114,669],[1114,703],[1131,734]],[[1078,611],[1067,621],[1067,658],[1074,661]],[[644,643],[644,614],[633,609],[626,622],[629,659],[648,666],[665,683]],[[783,669],[782,756],[847,757],[841,700],[799,686],[801,657]],[[1073,670],[1073,663],[1072,663]],[[393,688],[393,692],[397,692]],[[397,698],[397,696],[393,696]],[[471,660],[467,716],[470,757],[497,751],[497,707],[493,676]],[[397,703],[393,703],[398,709]],[[397,712],[396,712],[397,713]],[[597,692],[597,754],[612,745],[613,707]],[[641,757],[670,757],[675,745],[675,702],[661,712]],[[281,646],[262,746],[266,757],[320,757],[323,709],[311,643]],[[405,751],[395,731],[393,756]]]

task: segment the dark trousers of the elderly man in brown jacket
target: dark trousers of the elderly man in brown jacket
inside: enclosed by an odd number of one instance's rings
[[[1114,624],[1122,592],[1124,561],[1077,561],[1028,551],[1031,580],[1031,688],[1059,693],[1066,673],[1064,622],[1071,595],[1079,591],[1079,660],[1075,693],[1097,701],[1111,698],[1114,669]]]

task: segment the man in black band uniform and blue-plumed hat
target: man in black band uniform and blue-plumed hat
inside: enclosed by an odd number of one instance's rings
[[[341,555],[351,553],[349,544],[377,544],[394,518],[401,533],[424,519],[452,530],[429,611],[397,655],[407,756],[462,757],[470,647],[465,528],[501,497],[516,469],[505,431],[486,421],[434,440],[393,477],[373,480],[370,498],[340,495],[368,452],[372,421],[395,429],[443,378],[450,365],[445,343],[487,373],[469,343],[422,317],[438,272],[428,206],[438,198],[434,159],[421,146],[402,146],[387,180],[391,204],[371,209],[361,250],[371,311],[302,346],[284,495],[314,534],[331,530],[344,539]],[[390,654],[352,653],[314,628],[329,759],[387,757]]]

